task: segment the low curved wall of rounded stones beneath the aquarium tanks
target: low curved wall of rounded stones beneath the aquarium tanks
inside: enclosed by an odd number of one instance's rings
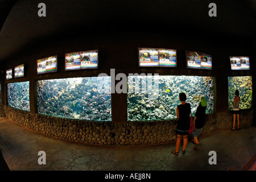
[[[73,142],[99,145],[148,145],[175,142],[176,120],[157,122],[93,122],[80,119],[52,117],[0,106],[0,116],[12,119],[21,126],[52,137]],[[233,125],[232,113],[207,115],[207,122],[201,134]],[[241,127],[251,126],[253,110],[241,111]]]

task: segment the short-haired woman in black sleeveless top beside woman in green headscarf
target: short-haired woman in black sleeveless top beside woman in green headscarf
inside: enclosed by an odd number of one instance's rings
[[[188,144],[188,130],[190,126],[190,114],[191,114],[191,105],[186,103],[187,96],[185,93],[179,94],[179,99],[181,104],[177,106],[177,127],[176,127],[176,150],[172,151],[172,154],[177,155],[179,153],[179,148],[181,144],[181,139],[183,139],[183,150],[182,153],[185,154],[185,148]]]

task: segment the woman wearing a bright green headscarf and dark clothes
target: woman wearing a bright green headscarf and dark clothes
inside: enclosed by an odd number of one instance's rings
[[[205,100],[204,97],[201,97],[201,100],[199,102],[199,106],[196,108],[196,114],[194,118],[194,125],[195,125],[195,130],[192,133],[193,137],[193,143],[196,145],[199,145],[199,141],[197,137],[200,135],[204,124],[205,124],[205,111],[207,107],[207,101]]]

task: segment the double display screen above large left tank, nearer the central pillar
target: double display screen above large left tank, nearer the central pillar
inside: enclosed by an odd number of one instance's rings
[[[65,70],[98,68],[98,50],[67,53]]]

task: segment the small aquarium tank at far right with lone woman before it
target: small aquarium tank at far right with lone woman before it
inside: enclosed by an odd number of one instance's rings
[[[251,76],[228,77],[228,109],[233,110],[235,91],[240,93],[240,109],[251,108],[253,82]]]

